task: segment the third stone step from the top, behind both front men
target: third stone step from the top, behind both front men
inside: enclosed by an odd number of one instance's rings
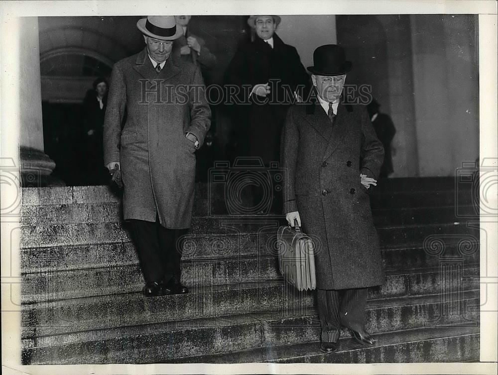
[[[202,225],[193,227],[188,235],[186,246],[196,248],[208,246],[228,249],[239,243],[239,238],[244,242],[247,235],[256,236],[258,244],[272,246],[272,237],[275,237],[279,219],[226,219],[203,222]],[[271,235],[273,233],[273,235]],[[385,226],[377,227],[380,246],[383,248],[416,246],[424,243],[429,236],[459,235],[461,238],[475,237],[479,239],[479,230],[462,223],[445,224],[418,224],[402,227]],[[228,234],[228,235],[227,235]],[[59,224],[59,225],[22,225],[21,249],[71,246],[86,244],[106,244],[129,242],[128,232],[120,223],[86,223],[86,224]],[[446,237],[445,237],[446,236]],[[476,237],[477,236],[477,237]],[[249,236],[250,237],[250,236]],[[432,238],[432,237],[431,237]],[[456,238],[456,237],[454,237]],[[430,238],[429,238],[430,239]]]

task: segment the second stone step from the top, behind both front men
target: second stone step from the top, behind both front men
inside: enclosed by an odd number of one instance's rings
[[[374,199],[374,198],[373,198]],[[419,206],[417,201],[415,207],[400,202],[399,207],[389,207],[390,201],[382,202],[378,207],[373,207],[373,222],[375,225],[410,225],[427,223],[448,223],[454,221],[467,221],[475,218],[478,214],[473,205],[460,205],[456,211],[454,201],[451,199],[447,205]],[[416,199],[414,199],[416,201]],[[238,219],[233,216],[214,215],[209,217],[207,204],[199,201],[194,205],[194,227],[202,226],[207,220],[230,220]],[[283,216],[282,216],[283,217]],[[247,219],[247,216],[241,217]],[[253,216],[253,220],[268,220],[267,216]],[[20,223],[25,225],[54,225],[54,224],[80,224],[118,222],[122,220],[121,202],[104,203],[75,203],[59,205],[32,205],[22,206]]]

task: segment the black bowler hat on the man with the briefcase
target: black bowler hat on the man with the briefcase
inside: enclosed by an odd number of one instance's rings
[[[344,49],[337,44],[325,44],[313,52],[313,66],[308,71],[318,76],[341,76],[348,73],[353,66],[346,61]]]

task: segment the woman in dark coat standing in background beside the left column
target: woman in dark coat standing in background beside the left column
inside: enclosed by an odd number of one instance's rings
[[[85,150],[83,160],[85,183],[89,185],[106,184],[108,172],[104,166],[104,117],[107,108],[109,84],[103,77],[93,82],[83,100],[83,137]]]

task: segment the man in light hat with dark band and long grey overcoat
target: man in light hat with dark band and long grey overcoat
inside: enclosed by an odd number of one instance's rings
[[[181,238],[192,216],[194,152],[211,113],[197,65],[170,57],[173,40],[183,35],[174,17],[148,16],[137,27],[145,48],[113,68],[104,159],[109,170],[119,167],[122,173],[124,219],[146,281],[143,294],[186,293]],[[185,90],[175,90],[179,86],[187,88],[188,100]]]

